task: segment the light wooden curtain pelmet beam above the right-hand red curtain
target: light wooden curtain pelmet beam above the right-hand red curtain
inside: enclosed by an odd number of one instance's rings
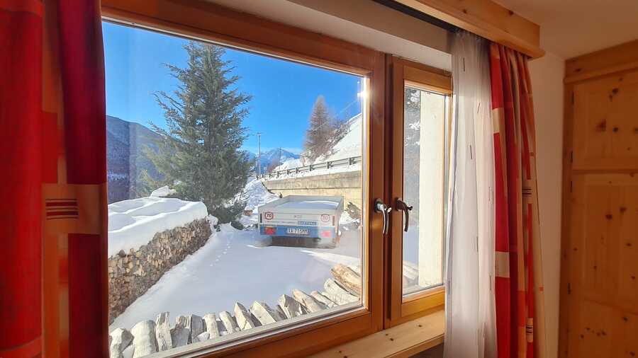
[[[410,8],[498,42],[532,58],[542,57],[540,27],[490,0],[396,0]]]

